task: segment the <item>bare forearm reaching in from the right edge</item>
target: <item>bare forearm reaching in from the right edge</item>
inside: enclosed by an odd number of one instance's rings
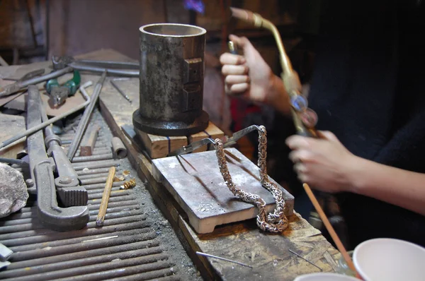
[[[425,174],[356,157],[349,191],[425,215]]]

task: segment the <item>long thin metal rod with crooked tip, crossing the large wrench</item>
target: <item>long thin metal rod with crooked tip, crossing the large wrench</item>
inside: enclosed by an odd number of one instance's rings
[[[81,95],[83,95],[86,102],[78,105],[74,109],[69,110],[69,112],[65,112],[65,113],[62,113],[58,116],[55,116],[54,118],[49,119],[49,121],[42,122],[42,124],[38,124],[37,126],[27,128],[27,130],[25,132],[19,133],[18,135],[13,136],[12,138],[9,138],[8,140],[4,140],[4,142],[0,144],[0,149],[4,148],[6,145],[10,145],[11,143],[15,142],[16,140],[18,140],[20,138],[23,138],[24,136],[29,136],[31,133],[39,131],[42,128],[45,128],[46,126],[49,126],[50,124],[53,124],[56,121],[59,121],[60,119],[65,118],[68,115],[74,114],[75,112],[78,112],[80,109],[86,107],[86,105],[90,103],[91,99],[90,99],[89,95],[87,95],[86,90],[84,90],[84,88],[89,87],[91,84],[92,84],[92,82],[88,81],[88,82],[84,83],[84,85],[81,85],[81,87],[79,88]]]

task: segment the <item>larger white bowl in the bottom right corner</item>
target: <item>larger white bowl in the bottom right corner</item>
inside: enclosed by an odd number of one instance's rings
[[[364,241],[354,249],[353,263],[365,281],[425,280],[425,249],[407,241]]]

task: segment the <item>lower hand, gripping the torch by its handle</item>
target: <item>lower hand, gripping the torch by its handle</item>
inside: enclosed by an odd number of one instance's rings
[[[329,131],[319,131],[321,138],[290,136],[286,145],[293,150],[289,158],[300,181],[314,189],[336,193],[352,187],[351,170],[356,156]]]

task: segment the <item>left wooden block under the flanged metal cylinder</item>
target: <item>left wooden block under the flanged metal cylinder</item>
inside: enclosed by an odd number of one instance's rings
[[[138,136],[142,139],[148,155],[152,159],[166,157],[172,151],[188,144],[186,136],[155,136],[135,128]]]

